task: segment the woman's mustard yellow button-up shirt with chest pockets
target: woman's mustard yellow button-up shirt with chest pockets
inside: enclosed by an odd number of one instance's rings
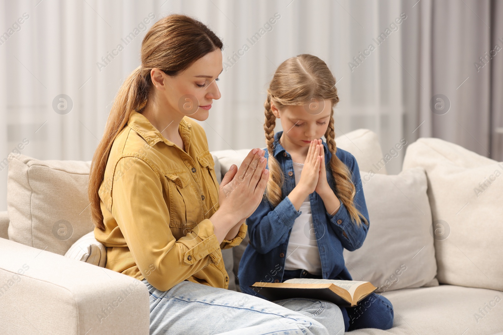
[[[179,132],[185,151],[132,112],[99,189],[105,231],[94,234],[107,247],[107,269],[158,290],[184,280],[228,288],[221,249],[239,245],[247,227],[218,243],[209,217],[219,208],[219,185],[206,133],[188,117]]]

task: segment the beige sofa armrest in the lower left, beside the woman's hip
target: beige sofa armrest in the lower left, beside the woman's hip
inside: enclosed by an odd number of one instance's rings
[[[3,333],[149,333],[141,281],[1,238],[0,250]]]

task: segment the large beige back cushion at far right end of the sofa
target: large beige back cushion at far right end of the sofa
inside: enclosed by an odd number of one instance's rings
[[[407,148],[428,176],[439,282],[503,289],[503,163],[441,139]]]

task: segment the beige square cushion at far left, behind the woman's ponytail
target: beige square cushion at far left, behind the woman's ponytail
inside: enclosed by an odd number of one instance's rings
[[[87,187],[91,161],[9,156],[9,239],[64,255],[94,229]]]

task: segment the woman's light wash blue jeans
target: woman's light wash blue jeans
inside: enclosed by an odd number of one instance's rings
[[[190,281],[159,291],[142,282],[150,293],[150,335],[344,334],[341,309],[328,301],[271,302]]]

